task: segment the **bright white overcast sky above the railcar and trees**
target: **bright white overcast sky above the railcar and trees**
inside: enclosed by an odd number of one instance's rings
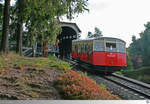
[[[132,35],[139,37],[144,24],[150,21],[150,0],[89,0],[88,3],[90,12],[72,20],[81,29],[82,38],[98,27],[103,36],[123,39],[128,46]]]

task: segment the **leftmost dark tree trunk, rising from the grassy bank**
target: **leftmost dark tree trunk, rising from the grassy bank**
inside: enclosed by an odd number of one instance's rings
[[[2,40],[0,50],[4,54],[8,54],[9,7],[10,7],[10,0],[5,0],[3,30],[2,30]]]

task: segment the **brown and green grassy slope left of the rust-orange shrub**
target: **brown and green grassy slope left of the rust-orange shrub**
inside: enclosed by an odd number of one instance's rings
[[[70,64],[54,56],[24,57],[13,52],[0,56],[0,100],[59,99],[53,87],[56,76],[70,70]],[[53,97],[54,96],[54,97]]]

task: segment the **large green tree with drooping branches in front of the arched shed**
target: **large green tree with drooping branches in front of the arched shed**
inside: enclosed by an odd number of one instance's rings
[[[17,8],[19,11],[18,24],[20,26],[17,29],[17,52],[21,50],[19,47],[22,46],[22,39],[19,37],[22,37],[23,21],[28,35],[30,35],[28,37],[33,40],[32,45],[38,37],[41,37],[42,40],[55,42],[57,35],[60,33],[58,25],[60,17],[66,16],[68,19],[72,19],[74,14],[88,10],[86,8],[87,0],[40,0],[38,2],[37,0],[28,0],[24,3],[22,3],[22,0],[19,1]]]

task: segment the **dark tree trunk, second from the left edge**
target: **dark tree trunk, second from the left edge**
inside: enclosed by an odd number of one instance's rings
[[[23,7],[22,1],[18,0],[18,27],[16,53],[22,56],[22,32],[23,32]]]

